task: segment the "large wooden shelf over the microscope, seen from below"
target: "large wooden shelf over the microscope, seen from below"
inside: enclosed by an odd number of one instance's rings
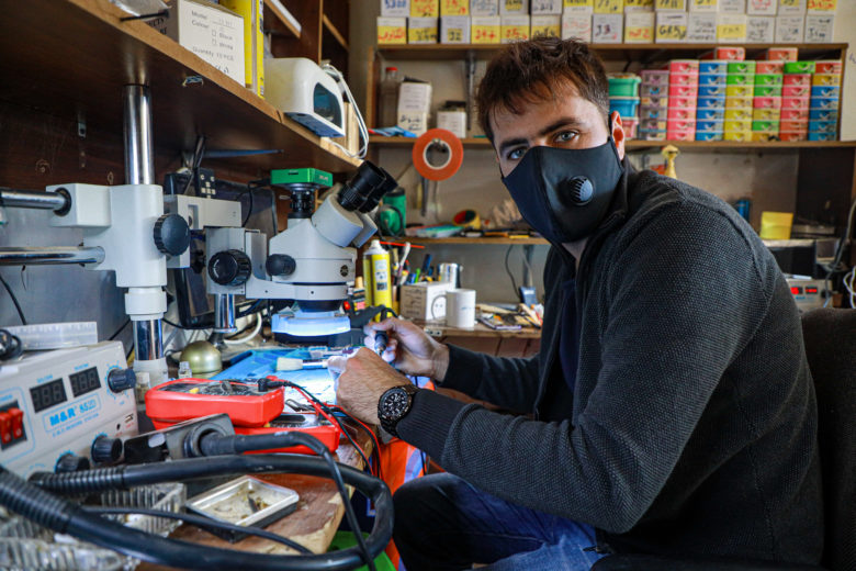
[[[122,22],[126,15],[109,0],[15,2],[0,20],[0,100],[121,133],[123,87],[142,83],[151,89],[157,154],[177,157],[204,134],[209,149],[278,150],[228,159],[236,166],[359,166],[145,22]]]

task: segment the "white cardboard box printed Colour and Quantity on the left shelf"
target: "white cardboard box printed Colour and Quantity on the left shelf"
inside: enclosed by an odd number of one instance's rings
[[[244,19],[203,0],[176,0],[148,24],[244,86]]]

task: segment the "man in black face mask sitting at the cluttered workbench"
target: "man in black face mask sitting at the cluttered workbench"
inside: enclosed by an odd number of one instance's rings
[[[503,181],[552,244],[541,352],[502,359],[388,320],[339,403],[448,473],[395,495],[409,571],[588,569],[602,552],[816,563],[816,411],[774,258],[728,204],[624,158],[585,44],[514,44],[480,86]],[[369,339],[371,342],[371,339]],[[380,406],[380,410],[379,410]],[[380,415],[380,418],[379,418]]]

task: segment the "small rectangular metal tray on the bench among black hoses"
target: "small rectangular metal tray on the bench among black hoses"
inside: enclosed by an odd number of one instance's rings
[[[189,500],[184,507],[219,522],[264,527],[296,510],[297,500],[300,496],[294,490],[243,475]],[[206,529],[229,541],[247,535],[214,527]]]

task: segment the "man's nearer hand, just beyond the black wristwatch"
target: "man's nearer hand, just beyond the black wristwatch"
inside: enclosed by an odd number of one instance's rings
[[[410,382],[365,347],[350,357],[331,357],[327,367],[341,371],[336,402],[349,414],[368,424],[380,424],[378,401],[384,392]]]

